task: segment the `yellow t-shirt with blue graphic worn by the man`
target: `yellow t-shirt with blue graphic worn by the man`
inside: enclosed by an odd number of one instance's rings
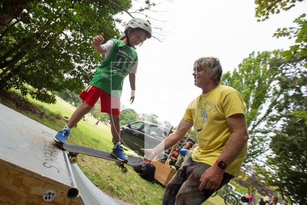
[[[223,152],[231,135],[226,118],[242,113],[246,104],[235,89],[219,85],[191,101],[183,119],[194,124],[199,147],[194,149],[192,159],[212,166]],[[238,157],[227,166],[226,172],[237,177],[246,155],[247,143]]]

